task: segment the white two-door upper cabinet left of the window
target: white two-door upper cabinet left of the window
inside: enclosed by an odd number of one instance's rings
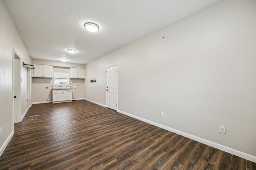
[[[53,66],[34,64],[35,69],[33,69],[33,77],[44,77],[52,78]]]

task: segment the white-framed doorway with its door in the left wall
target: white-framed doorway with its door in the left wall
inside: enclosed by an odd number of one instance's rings
[[[20,76],[21,61],[20,59],[21,59],[20,55],[18,55],[18,53],[13,48],[12,49],[12,115],[13,115],[14,123],[20,122],[20,119],[21,119],[21,76]],[[15,67],[15,60],[18,60],[18,68]],[[15,71],[18,71],[18,76],[15,76]],[[15,79],[17,79],[18,86],[15,85]],[[17,100],[18,106],[15,106],[15,101],[14,101],[15,90],[17,90],[16,100]],[[16,113],[14,109],[15,107],[18,107]]]

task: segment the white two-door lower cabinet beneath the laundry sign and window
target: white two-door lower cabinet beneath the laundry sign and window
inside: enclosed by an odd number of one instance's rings
[[[72,102],[72,89],[52,90],[52,103]]]

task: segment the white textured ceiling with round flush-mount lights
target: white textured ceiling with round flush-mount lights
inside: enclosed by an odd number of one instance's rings
[[[4,0],[32,59],[86,64],[218,0]],[[94,22],[96,33],[84,29]],[[80,44],[76,41],[81,41]],[[70,54],[66,49],[75,49]]]

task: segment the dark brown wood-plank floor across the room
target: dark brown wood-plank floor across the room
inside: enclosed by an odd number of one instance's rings
[[[255,170],[256,163],[85,100],[33,105],[0,169]]]

